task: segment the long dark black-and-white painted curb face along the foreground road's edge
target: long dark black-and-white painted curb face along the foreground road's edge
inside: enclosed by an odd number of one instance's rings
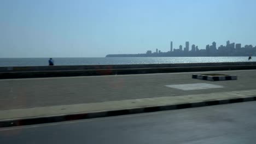
[[[130,109],[110,110],[110,111],[73,113],[73,114],[67,114],[67,115],[57,115],[57,116],[47,116],[47,117],[7,119],[7,120],[0,121],[0,128],[21,126],[21,125],[73,121],[73,120],[78,120],[78,119],[131,115],[131,114],[144,113],[144,112],[178,110],[178,109],[187,109],[187,108],[191,108],[191,107],[242,103],[242,102],[246,102],[246,101],[255,101],[255,100],[256,100],[256,96],[252,96],[252,97],[242,97],[242,98],[232,98],[232,99],[216,99],[216,100],[207,100],[207,101],[197,101],[197,102],[193,102],[193,103],[183,103],[183,104],[174,104],[174,105],[156,105],[156,106],[135,107],[135,108],[130,108]]]

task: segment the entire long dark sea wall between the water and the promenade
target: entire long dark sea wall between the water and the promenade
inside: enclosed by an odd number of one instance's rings
[[[0,79],[256,69],[256,62],[0,67]]]

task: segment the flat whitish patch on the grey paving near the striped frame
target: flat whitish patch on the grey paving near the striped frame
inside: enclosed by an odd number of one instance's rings
[[[166,85],[166,87],[177,88],[184,91],[196,90],[196,89],[209,89],[209,88],[223,88],[223,86],[213,85],[210,83],[191,83],[184,85]]]

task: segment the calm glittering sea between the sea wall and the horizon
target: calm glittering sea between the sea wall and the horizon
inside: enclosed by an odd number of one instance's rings
[[[0,58],[0,67],[48,65],[48,59],[49,58]],[[101,57],[53,59],[55,65],[248,62],[248,57]],[[256,57],[252,57],[251,61],[256,62]]]

